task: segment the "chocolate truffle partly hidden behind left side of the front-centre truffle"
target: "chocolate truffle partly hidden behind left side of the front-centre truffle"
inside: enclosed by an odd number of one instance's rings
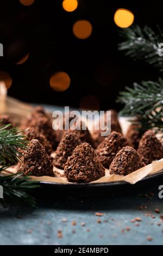
[[[64,135],[55,151],[53,163],[58,168],[64,169],[67,158],[71,156],[74,148],[81,143],[78,133],[74,130],[65,130]]]

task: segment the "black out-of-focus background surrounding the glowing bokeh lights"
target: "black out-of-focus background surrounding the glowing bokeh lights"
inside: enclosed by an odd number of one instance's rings
[[[76,108],[85,105],[92,109],[99,105],[101,110],[119,110],[121,105],[115,99],[124,86],[158,78],[152,67],[133,62],[117,50],[120,28],[113,18],[118,8],[126,8],[134,13],[134,24],[153,28],[159,24],[162,28],[162,1],[79,0],[78,3],[78,8],[68,13],[62,8],[62,0],[35,0],[28,7],[18,0],[0,1],[0,42],[4,45],[0,70],[12,77],[10,96],[38,104]],[[92,23],[92,35],[85,40],[72,33],[73,23],[79,19]],[[28,60],[16,65],[28,52]],[[49,86],[49,78],[59,71],[71,78],[65,92],[55,92]]]

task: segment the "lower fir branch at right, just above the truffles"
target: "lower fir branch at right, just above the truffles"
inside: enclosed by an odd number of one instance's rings
[[[133,88],[126,87],[120,92],[117,102],[123,103],[121,115],[137,116],[142,129],[155,128],[163,131],[163,80],[158,82],[142,81],[134,83]]]

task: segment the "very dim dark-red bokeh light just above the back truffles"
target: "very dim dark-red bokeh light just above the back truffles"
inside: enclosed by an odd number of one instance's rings
[[[92,95],[84,96],[80,99],[79,108],[83,110],[99,110],[99,100]]]

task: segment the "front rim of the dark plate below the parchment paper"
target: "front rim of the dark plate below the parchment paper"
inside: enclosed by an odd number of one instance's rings
[[[42,187],[57,190],[59,193],[78,193],[78,194],[101,194],[105,192],[113,192],[117,190],[137,189],[139,187],[150,188],[154,183],[156,186],[163,182],[163,170],[159,174],[154,174],[143,178],[136,184],[130,184],[126,181],[116,181],[108,183],[55,183],[41,181]]]

